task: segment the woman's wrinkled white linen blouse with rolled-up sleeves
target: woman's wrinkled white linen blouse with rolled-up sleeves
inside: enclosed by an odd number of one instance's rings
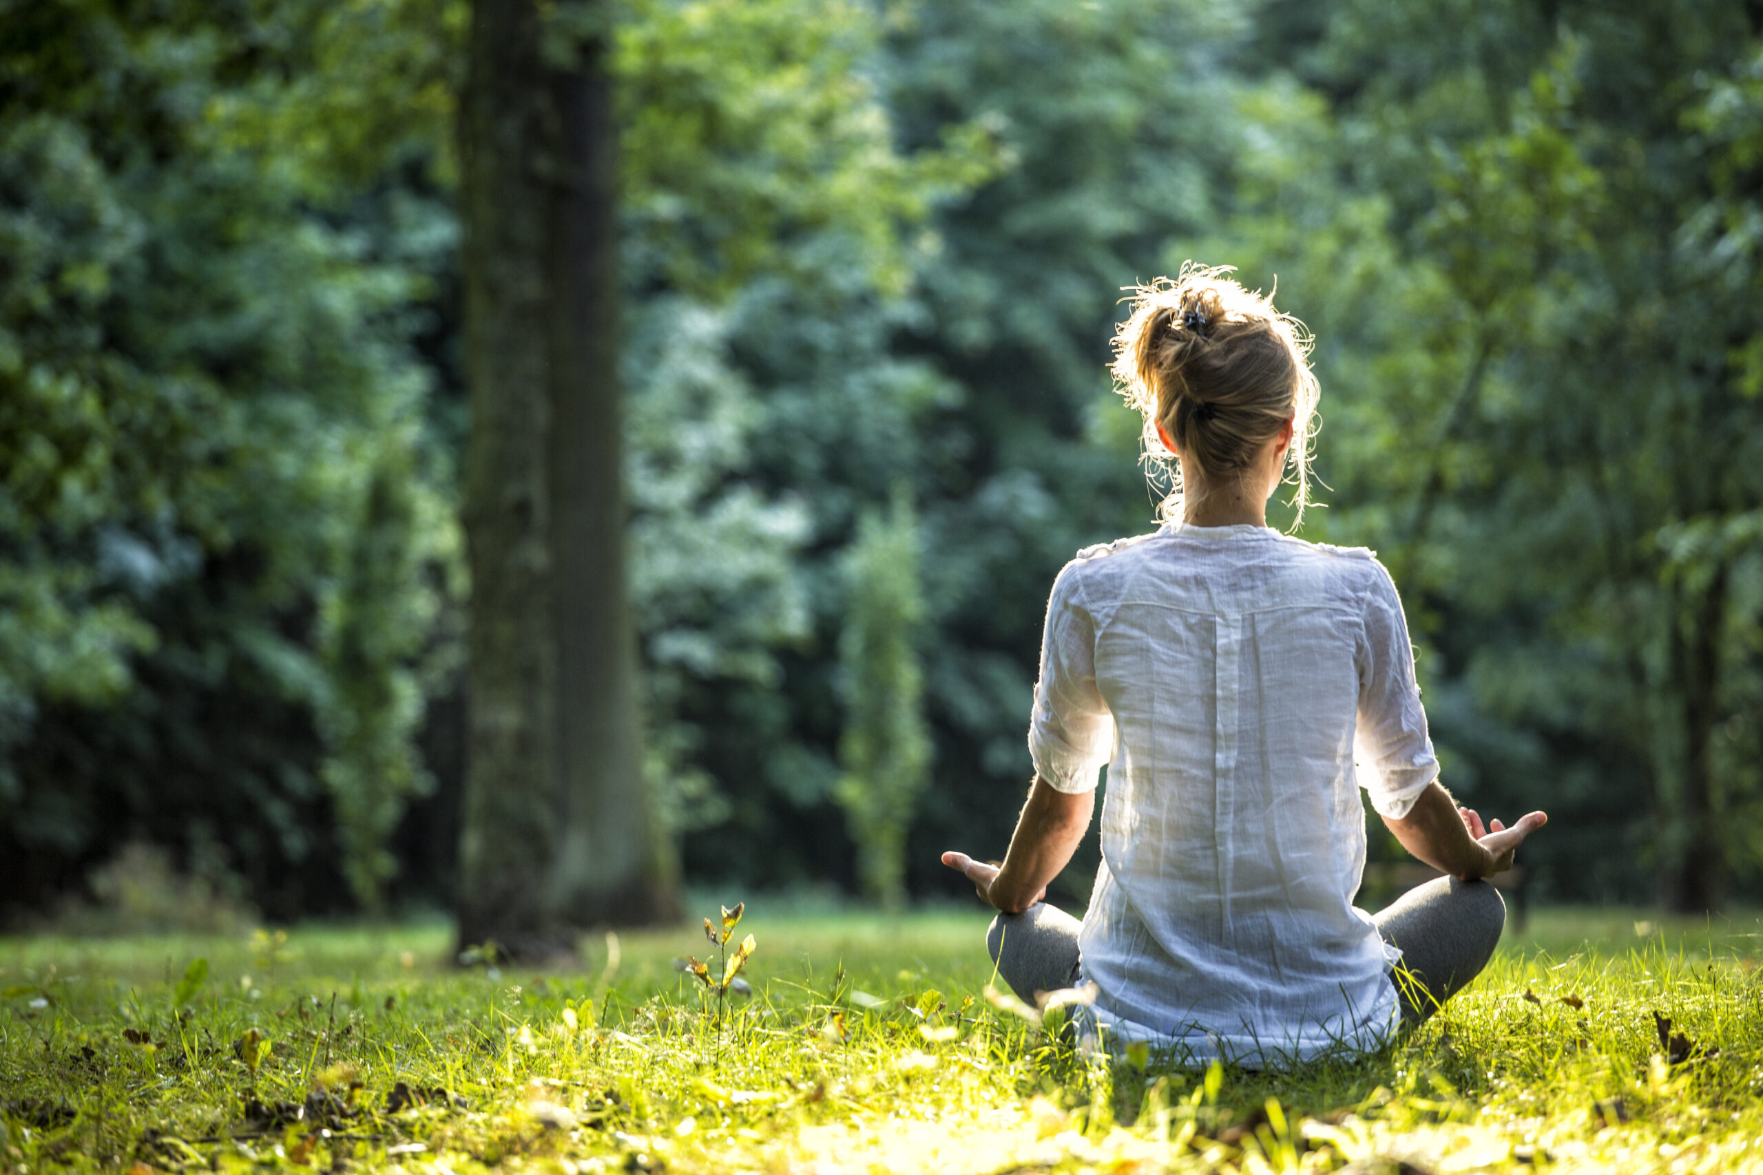
[[[1439,761],[1372,551],[1179,523],[1079,551],[1028,742],[1060,791],[1109,768],[1079,950],[1114,1039],[1276,1064],[1389,1034],[1358,787],[1400,817]]]

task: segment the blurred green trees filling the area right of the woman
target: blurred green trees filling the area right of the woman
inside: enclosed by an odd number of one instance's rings
[[[1555,814],[1546,884],[1714,907],[1756,868],[1730,650],[1763,421],[1707,115],[1756,18],[1347,0],[1326,28],[1287,58],[1326,171],[1264,159],[1232,225],[1324,340],[1320,527],[1402,580],[1453,782]]]

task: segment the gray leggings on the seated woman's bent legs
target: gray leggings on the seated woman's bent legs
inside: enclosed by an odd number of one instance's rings
[[[1402,1024],[1414,1027],[1435,1013],[1493,958],[1506,927],[1506,902],[1486,881],[1439,877],[1409,890],[1373,914],[1386,942],[1402,948],[1402,969],[1389,976],[1402,1001]],[[1021,914],[998,914],[986,932],[998,974],[1033,1002],[1077,981],[1075,918],[1040,902]]]

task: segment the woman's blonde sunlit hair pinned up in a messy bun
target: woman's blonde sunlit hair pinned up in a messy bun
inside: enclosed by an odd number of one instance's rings
[[[1114,382],[1144,418],[1144,460],[1167,469],[1172,483],[1158,516],[1179,521],[1181,465],[1164,449],[1169,432],[1208,484],[1241,476],[1262,447],[1292,421],[1285,454],[1303,521],[1310,500],[1310,437],[1317,377],[1310,370],[1310,331],[1273,299],[1227,277],[1231,266],[1181,266],[1176,280],[1157,278],[1130,291],[1132,314],[1114,335]]]

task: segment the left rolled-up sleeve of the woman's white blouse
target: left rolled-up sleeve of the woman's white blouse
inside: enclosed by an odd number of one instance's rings
[[[1095,617],[1084,606],[1081,569],[1081,562],[1067,564],[1053,583],[1028,728],[1035,773],[1067,793],[1093,789],[1114,745],[1114,717],[1097,689]]]

